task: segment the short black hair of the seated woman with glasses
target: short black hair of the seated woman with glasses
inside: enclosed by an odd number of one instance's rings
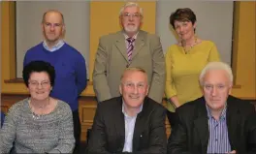
[[[26,86],[28,87],[28,80],[32,73],[42,73],[45,72],[48,74],[50,85],[53,86],[55,82],[55,70],[48,62],[45,61],[31,61],[28,63],[22,72],[22,77]]]

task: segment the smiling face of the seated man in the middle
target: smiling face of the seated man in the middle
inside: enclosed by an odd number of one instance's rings
[[[148,93],[147,77],[139,71],[126,71],[119,91],[127,108],[140,108]]]

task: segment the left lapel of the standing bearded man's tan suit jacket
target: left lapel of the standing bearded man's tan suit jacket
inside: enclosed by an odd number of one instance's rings
[[[127,63],[129,63],[127,49],[126,49],[126,45],[125,45],[125,37],[124,37],[122,31],[119,31],[116,33],[115,46],[121,52],[121,54],[123,55],[123,57],[127,61]]]

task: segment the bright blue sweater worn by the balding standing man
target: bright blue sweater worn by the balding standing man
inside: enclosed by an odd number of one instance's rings
[[[55,69],[55,84],[50,96],[66,102],[73,111],[77,110],[78,98],[87,83],[85,60],[80,52],[66,43],[54,51],[48,51],[41,43],[26,52],[23,66],[35,60],[46,61]]]

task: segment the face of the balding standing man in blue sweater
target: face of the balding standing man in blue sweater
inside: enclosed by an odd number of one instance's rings
[[[49,12],[42,23],[44,37],[50,44],[55,44],[62,39],[64,28],[62,17],[56,12]]]

